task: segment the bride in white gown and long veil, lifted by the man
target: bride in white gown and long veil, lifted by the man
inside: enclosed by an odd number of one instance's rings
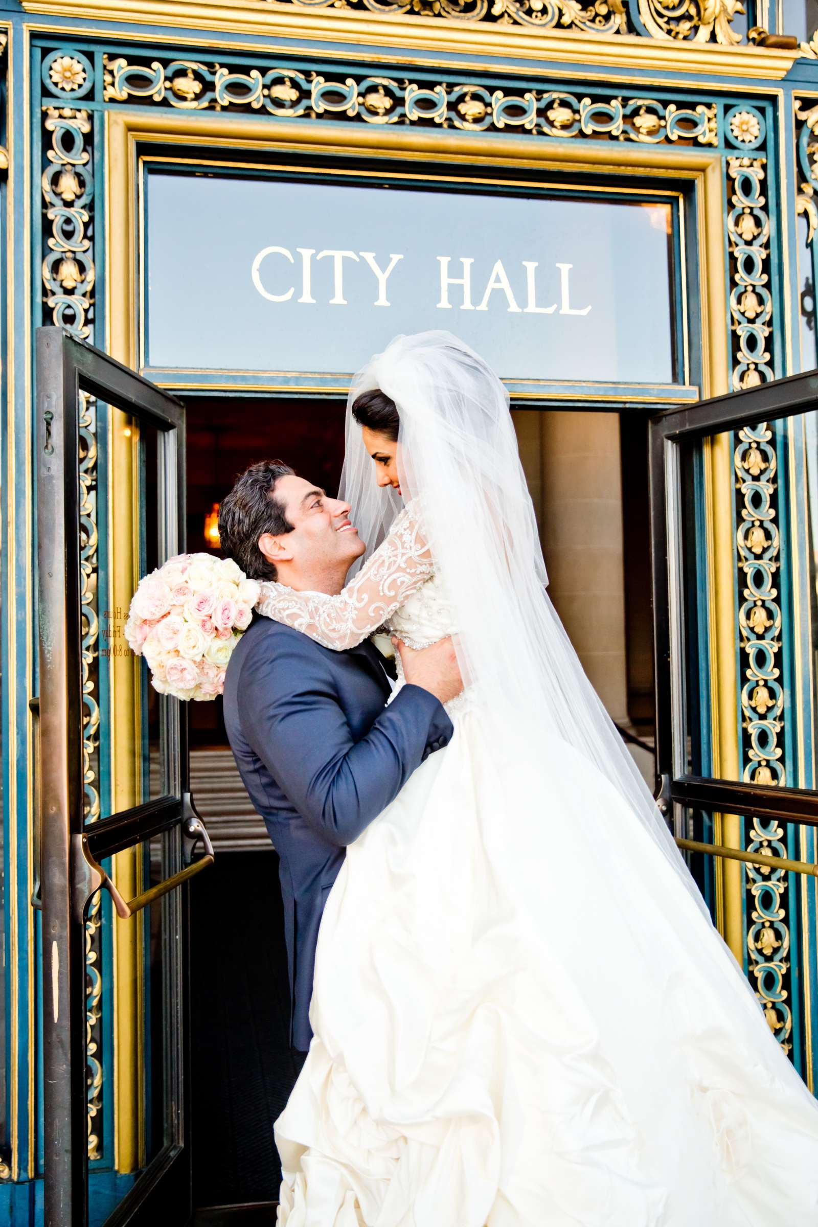
[[[818,1104],[546,594],[499,379],[396,337],[352,385],[342,497],[383,545],[260,611],[338,650],[456,633],[466,688],[326,904],[280,1225],[814,1225]]]

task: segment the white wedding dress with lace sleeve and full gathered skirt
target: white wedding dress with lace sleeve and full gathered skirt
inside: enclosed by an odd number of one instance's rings
[[[338,596],[262,589],[335,649],[457,631],[411,508]],[[814,1227],[818,1106],[681,874],[590,756],[449,712],[326,904],[281,1227]]]

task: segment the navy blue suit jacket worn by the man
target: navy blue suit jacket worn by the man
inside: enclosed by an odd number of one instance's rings
[[[256,617],[227,666],[227,735],[280,856],[292,1043],[302,1050],[318,929],[343,849],[453,734],[443,706],[418,686],[385,707],[381,660],[368,642],[330,652]]]

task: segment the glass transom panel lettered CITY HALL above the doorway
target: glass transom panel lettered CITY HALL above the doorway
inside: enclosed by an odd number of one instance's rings
[[[675,380],[668,198],[151,172],[146,200],[151,367],[352,372],[440,328],[510,380]]]

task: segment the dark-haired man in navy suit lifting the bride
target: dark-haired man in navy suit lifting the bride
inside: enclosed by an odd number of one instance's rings
[[[365,550],[350,506],[280,460],[251,465],[223,501],[222,550],[251,579],[336,594]],[[244,787],[280,856],[292,1002],[291,1043],[312,1029],[315,944],[345,848],[378,817],[424,758],[449,742],[443,704],[462,687],[449,639],[410,652],[407,685],[391,683],[368,640],[331,652],[255,616],[231,656],[224,723]]]

